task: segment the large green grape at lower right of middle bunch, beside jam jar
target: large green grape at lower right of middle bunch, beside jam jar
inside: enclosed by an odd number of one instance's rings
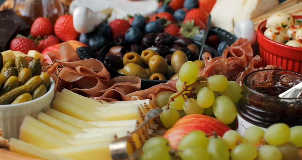
[[[224,124],[232,123],[237,117],[235,104],[225,95],[221,95],[215,99],[213,103],[213,112],[215,117]]]

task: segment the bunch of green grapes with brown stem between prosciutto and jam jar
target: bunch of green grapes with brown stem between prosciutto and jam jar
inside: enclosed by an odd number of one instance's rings
[[[242,97],[240,85],[228,81],[223,75],[210,76],[203,83],[199,81],[203,77],[198,75],[198,65],[191,61],[185,62],[176,82],[178,92],[163,91],[156,95],[156,105],[163,109],[160,120],[166,128],[171,128],[177,120],[188,114],[214,115],[225,124],[236,119],[235,104]]]

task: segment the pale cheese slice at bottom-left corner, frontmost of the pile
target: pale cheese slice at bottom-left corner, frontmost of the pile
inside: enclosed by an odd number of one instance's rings
[[[11,138],[9,141],[9,150],[14,153],[44,160],[74,160],[14,138]]]

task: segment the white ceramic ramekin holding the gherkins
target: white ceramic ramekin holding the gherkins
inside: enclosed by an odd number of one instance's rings
[[[0,126],[4,131],[4,138],[18,138],[19,129],[26,115],[37,118],[40,112],[50,107],[55,94],[55,83],[50,78],[50,89],[42,97],[20,104],[0,105]]]

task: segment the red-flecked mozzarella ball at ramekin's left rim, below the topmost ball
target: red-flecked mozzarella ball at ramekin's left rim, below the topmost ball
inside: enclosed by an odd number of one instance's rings
[[[286,39],[286,33],[281,27],[271,27],[264,31],[265,37],[274,40],[279,43],[283,43]]]

